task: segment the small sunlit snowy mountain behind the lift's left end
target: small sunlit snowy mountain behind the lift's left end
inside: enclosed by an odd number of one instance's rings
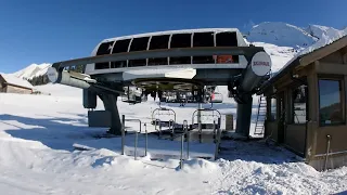
[[[51,64],[48,63],[30,64],[28,67],[13,73],[13,75],[20,78],[33,79],[34,77],[44,75],[50,66]]]

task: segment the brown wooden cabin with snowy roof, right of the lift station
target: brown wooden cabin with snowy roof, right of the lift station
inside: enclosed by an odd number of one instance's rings
[[[294,57],[258,94],[265,136],[317,170],[347,166],[347,36]]]

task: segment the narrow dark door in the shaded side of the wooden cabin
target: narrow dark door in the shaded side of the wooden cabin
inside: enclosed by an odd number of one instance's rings
[[[285,131],[285,103],[284,103],[284,92],[279,93],[278,96],[278,106],[279,106],[279,127],[278,127],[278,142],[284,142],[284,131]]]

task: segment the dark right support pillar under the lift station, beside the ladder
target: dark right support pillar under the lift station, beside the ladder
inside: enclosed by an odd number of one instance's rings
[[[236,133],[249,135],[250,117],[252,117],[253,98],[248,96],[245,104],[237,104]]]

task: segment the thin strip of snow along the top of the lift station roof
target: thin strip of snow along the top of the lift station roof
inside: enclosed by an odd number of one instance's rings
[[[121,36],[121,37],[115,37],[115,38],[108,38],[104,39],[101,42],[110,42],[120,39],[131,39],[131,38],[138,38],[138,37],[151,37],[151,36],[159,36],[159,35],[171,35],[171,34],[192,34],[192,32],[207,32],[207,31],[214,31],[214,32],[223,32],[223,31],[239,31],[237,28],[198,28],[198,29],[180,29],[180,30],[166,30],[166,31],[155,31],[155,32],[147,32],[147,34],[137,34],[137,35],[130,35],[130,36]]]

